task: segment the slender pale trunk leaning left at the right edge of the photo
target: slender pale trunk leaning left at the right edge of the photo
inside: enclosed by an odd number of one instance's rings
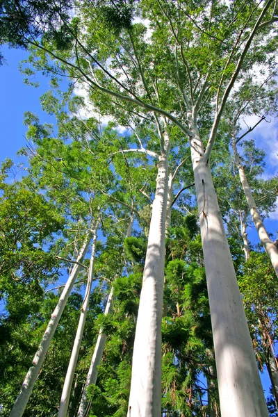
[[[270,237],[268,236],[268,232],[265,230],[263,220],[261,220],[261,216],[259,215],[259,211],[256,207],[256,203],[254,202],[254,198],[252,196],[250,186],[248,184],[247,178],[245,177],[243,165],[240,163],[240,157],[238,155],[238,150],[236,149],[236,138],[234,134],[233,134],[233,150],[234,150],[234,156],[236,159],[236,166],[238,167],[240,181],[243,186],[243,191],[247,200],[247,204],[250,208],[250,213],[252,215],[252,219],[255,224],[256,231],[259,234],[261,243],[265,249],[265,252],[270,257],[270,261],[275,270],[275,274],[278,277],[278,250],[277,250],[275,243],[273,243]]]

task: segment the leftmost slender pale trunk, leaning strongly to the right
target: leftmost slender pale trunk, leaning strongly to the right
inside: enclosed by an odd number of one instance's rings
[[[76,262],[81,263],[83,261],[85,253],[88,250],[89,243],[90,235],[88,235],[85,239],[85,242],[81,247],[79,255],[77,256]],[[54,336],[60,317],[62,316],[62,313],[65,309],[65,304],[67,303],[67,299],[70,295],[70,292],[72,291],[74,281],[76,280],[76,277],[79,274],[80,268],[81,265],[78,264],[74,264],[74,268],[72,268],[72,272],[70,274],[69,279],[67,280],[67,284],[65,285],[63,293],[60,295],[58,304],[56,305],[54,312],[51,314],[51,319],[49,321],[47,329],[44,332],[44,335],[42,336],[42,341],[40,342],[40,346],[38,347],[37,352],[35,353],[32,365],[29,368],[28,373],[26,374],[26,377],[22,384],[22,388],[19,392],[17,400],[15,401],[15,405],[13,406],[12,411],[10,411],[10,417],[21,417],[24,413],[26,404],[32,393],[33,386],[39,375],[40,368],[42,367],[45,355],[47,354],[50,342]]]

